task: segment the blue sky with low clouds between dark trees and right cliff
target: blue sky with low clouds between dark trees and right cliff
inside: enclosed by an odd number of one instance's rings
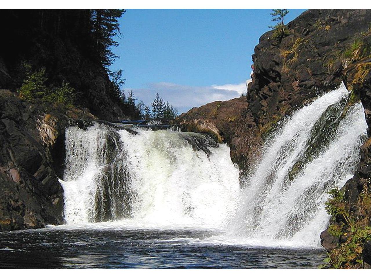
[[[290,9],[285,23],[305,9]],[[185,112],[246,91],[251,55],[273,25],[271,9],[129,9],[111,66],[123,69],[124,90],[146,104],[158,91]],[[219,86],[216,86],[219,85]]]

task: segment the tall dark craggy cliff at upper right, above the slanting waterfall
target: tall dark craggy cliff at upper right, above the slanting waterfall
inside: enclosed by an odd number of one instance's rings
[[[341,56],[368,30],[370,10],[308,10],[288,24],[282,39],[267,32],[255,47],[249,108],[258,125],[280,118],[342,81]]]

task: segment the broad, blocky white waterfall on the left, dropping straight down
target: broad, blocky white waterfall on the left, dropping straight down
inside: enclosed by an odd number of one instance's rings
[[[240,193],[229,148],[197,133],[136,131],[66,130],[66,222],[225,226]]]

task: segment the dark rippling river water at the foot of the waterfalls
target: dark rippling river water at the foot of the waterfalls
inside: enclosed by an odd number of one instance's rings
[[[0,268],[318,268],[319,249],[194,244],[207,231],[53,230],[0,233]],[[184,238],[184,240],[182,240]],[[176,240],[174,240],[176,239]]]

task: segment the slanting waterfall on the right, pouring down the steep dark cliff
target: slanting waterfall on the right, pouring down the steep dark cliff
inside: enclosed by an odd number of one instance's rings
[[[230,234],[255,245],[319,246],[326,192],[354,174],[367,124],[342,84],[296,111],[267,140],[245,178]]]

